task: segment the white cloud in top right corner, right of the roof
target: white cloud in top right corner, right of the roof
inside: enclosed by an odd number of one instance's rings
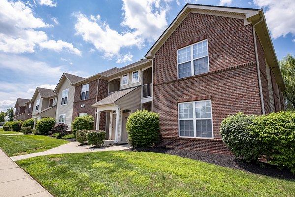
[[[295,35],[295,2],[294,0],[253,0],[254,4],[263,7],[266,22],[272,38]]]

